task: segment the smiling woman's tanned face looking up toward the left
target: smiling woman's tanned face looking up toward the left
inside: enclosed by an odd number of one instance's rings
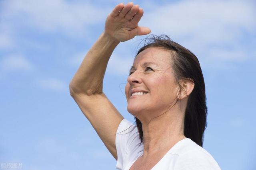
[[[125,94],[128,112],[138,119],[150,119],[164,113],[176,99],[178,86],[170,55],[170,51],[150,47],[136,56]],[[134,95],[134,92],[142,93]]]

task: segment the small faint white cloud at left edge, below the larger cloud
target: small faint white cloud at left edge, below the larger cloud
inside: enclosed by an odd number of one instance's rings
[[[35,67],[22,55],[10,55],[2,59],[0,68],[3,72],[20,72],[32,71]]]

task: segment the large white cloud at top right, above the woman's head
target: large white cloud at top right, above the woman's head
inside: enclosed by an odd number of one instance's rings
[[[150,27],[152,34],[169,35],[199,58],[244,61],[255,53],[246,49],[250,40],[244,39],[256,33],[252,1],[183,0],[148,8],[140,25]]]

